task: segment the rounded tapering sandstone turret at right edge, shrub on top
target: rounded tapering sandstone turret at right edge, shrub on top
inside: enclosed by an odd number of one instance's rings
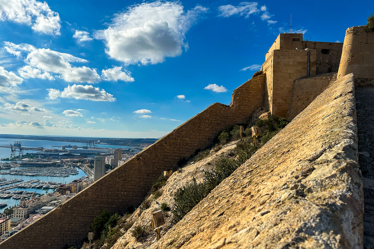
[[[338,78],[353,73],[356,87],[374,87],[374,32],[365,26],[347,28]]]

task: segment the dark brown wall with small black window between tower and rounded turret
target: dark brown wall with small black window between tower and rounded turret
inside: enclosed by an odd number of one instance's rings
[[[343,43],[303,41],[303,48],[316,50],[316,74],[338,71]]]

